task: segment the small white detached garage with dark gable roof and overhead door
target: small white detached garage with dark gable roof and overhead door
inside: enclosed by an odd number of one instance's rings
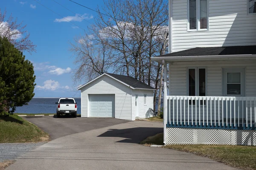
[[[155,89],[133,77],[104,73],[78,90],[81,117],[135,120],[153,115]]]

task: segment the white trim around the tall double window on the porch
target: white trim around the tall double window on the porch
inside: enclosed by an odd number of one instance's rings
[[[187,68],[187,74],[186,74],[186,80],[187,80],[187,96],[189,96],[189,69],[195,69],[195,75],[196,75],[196,81],[195,81],[195,96],[199,96],[198,91],[198,72],[200,68],[205,69],[205,96],[207,96],[207,67],[188,67]]]

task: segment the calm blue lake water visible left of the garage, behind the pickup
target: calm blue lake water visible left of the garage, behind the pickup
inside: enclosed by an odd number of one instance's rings
[[[56,113],[59,98],[33,98],[29,105],[17,107],[14,113]],[[77,114],[81,114],[81,98],[74,98],[77,103]]]

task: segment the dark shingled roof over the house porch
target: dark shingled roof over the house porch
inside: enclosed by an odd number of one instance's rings
[[[229,46],[229,47],[197,47],[189,50],[178,51],[157,57],[181,57],[181,56],[218,56],[218,55],[246,55],[256,54],[256,45]]]

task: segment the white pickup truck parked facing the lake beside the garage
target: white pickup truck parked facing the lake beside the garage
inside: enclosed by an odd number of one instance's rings
[[[56,112],[58,118],[61,116],[61,114],[72,114],[73,117],[77,116],[77,105],[75,99],[60,98],[55,104],[58,104]]]

